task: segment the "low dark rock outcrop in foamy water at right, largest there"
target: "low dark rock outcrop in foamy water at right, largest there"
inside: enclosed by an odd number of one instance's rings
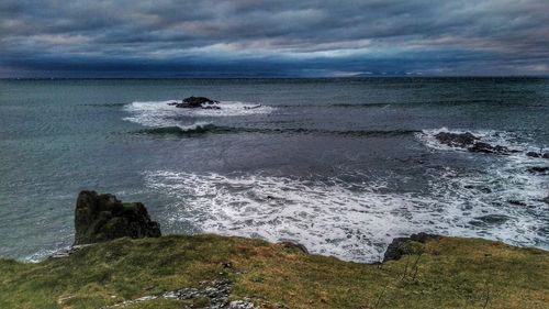
[[[512,151],[505,146],[491,145],[489,143],[481,142],[480,137],[473,135],[472,133],[450,133],[440,132],[435,135],[437,141],[441,144],[451,146],[467,148],[473,153],[496,153],[496,154],[509,154]]]

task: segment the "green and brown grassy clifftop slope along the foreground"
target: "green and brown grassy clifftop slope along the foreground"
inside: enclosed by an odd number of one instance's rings
[[[0,308],[100,308],[219,278],[265,308],[549,308],[548,252],[449,238],[421,246],[417,263],[378,266],[239,238],[121,239],[40,264],[0,260]]]

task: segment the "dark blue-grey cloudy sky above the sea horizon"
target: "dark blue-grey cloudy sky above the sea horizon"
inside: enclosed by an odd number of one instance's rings
[[[0,1],[0,77],[549,75],[549,0]]]

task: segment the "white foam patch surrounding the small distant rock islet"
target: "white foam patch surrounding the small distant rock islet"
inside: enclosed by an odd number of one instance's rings
[[[274,110],[269,106],[257,103],[244,103],[237,101],[222,101],[217,104],[220,109],[184,109],[169,106],[169,101],[133,102],[124,107],[131,113],[124,120],[139,123],[146,126],[175,126],[178,125],[177,117],[236,117],[267,114]]]

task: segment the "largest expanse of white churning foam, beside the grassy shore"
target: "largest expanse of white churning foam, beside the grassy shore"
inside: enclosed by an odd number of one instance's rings
[[[204,232],[269,241],[293,240],[314,253],[349,261],[376,262],[393,238],[419,231],[523,245],[547,241],[538,231],[547,218],[523,208],[471,202],[478,194],[464,190],[463,185],[474,179],[463,183],[455,172],[446,174],[432,184],[429,196],[381,194],[377,184],[357,187],[338,179],[328,185],[288,177],[173,172],[149,172],[145,178],[148,187],[177,200],[170,209],[170,224],[184,222]],[[474,224],[475,218],[486,214],[509,219]]]

